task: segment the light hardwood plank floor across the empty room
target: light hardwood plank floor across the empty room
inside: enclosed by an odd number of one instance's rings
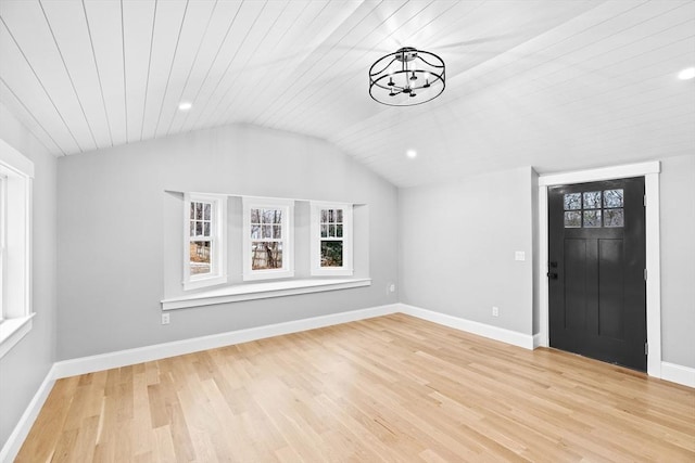
[[[17,461],[695,461],[695,389],[403,314],[60,380]]]

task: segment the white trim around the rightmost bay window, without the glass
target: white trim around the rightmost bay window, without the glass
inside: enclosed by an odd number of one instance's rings
[[[345,203],[311,203],[311,270],[312,275],[334,275],[350,276],[353,274],[353,205]],[[342,267],[321,267],[321,249],[320,243],[324,239],[320,235],[320,211],[321,209],[342,209],[343,211],[343,236],[339,240],[343,242],[343,266]]]

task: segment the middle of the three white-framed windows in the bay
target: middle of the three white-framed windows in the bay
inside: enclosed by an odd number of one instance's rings
[[[243,280],[294,276],[294,202],[243,198]]]

